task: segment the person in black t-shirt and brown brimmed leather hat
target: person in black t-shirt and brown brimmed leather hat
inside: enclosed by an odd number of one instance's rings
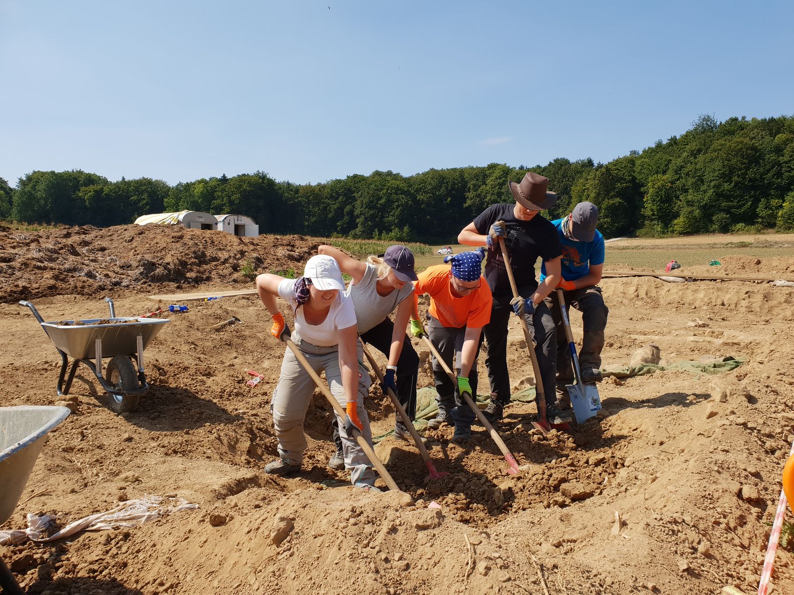
[[[535,353],[546,399],[546,417],[549,423],[562,424],[572,418],[567,411],[557,409],[554,375],[557,369],[557,340],[554,321],[543,299],[551,293],[561,279],[562,248],[557,228],[539,213],[557,202],[557,194],[546,192],[549,179],[527,172],[521,183],[509,182],[515,204],[491,205],[474,221],[466,225],[457,241],[468,246],[488,246],[485,279],[493,294],[491,322],[484,328],[488,344],[485,366],[491,382],[491,403],[485,409],[488,420],[502,419],[504,405],[510,402],[510,376],[507,372],[507,321],[511,312],[523,316],[534,336]],[[499,237],[505,240],[510,256],[515,284],[520,298],[513,299],[510,279],[507,277]],[[538,286],[535,280],[535,262],[540,257],[545,265],[546,277]],[[545,421],[545,420],[542,420]]]

